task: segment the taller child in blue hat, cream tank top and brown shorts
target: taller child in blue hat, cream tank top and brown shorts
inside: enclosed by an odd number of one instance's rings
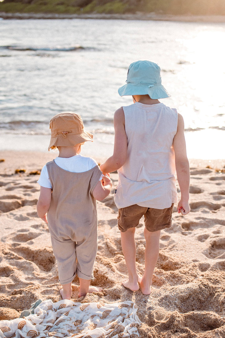
[[[184,122],[175,108],[158,99],[170,97],[161,84],[160,67],[140,60],[129,66],[127,83],[120,96],[132,95],[133,104],[114,114],[113,155],[102,165],[103,173],[118,170],[114,200],[118,207],[118,227],[128,280],[123,286],[143,294],[151,293],[153,271],[159,254],[160,230],[171,226],[173,205],[177,202],[175,170],[181,191],[178,213],[190,208],[189,163],[186,156]],[[144,215],[145,271],[136,271],[135,227]]]

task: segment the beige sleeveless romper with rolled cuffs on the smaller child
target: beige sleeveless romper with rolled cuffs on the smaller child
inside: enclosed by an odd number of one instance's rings
[[[97,205],[92,196],[102,172],[98,166],[85,172],[70,172],[54,160],[46,164],[52,186],[48,228],[59,282],[76,276],[93,280],[97,252]]]

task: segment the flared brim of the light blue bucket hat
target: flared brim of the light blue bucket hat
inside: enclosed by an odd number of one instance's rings
[[[118,93],[120,96],[148,94],[151,97],[151,99],[165,99],[167,97],[171,97],[171,95],[162,85],[148,87],[148,86],[137,86],[133,83],[126,83],[124,86],[118,89]]]

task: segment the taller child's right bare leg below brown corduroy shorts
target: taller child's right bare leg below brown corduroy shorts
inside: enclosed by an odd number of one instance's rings
[[[145,270],[143,277],[139,279],[139,283],[142,293],[148,295],[151,293],[152,276],[159,256],[160,230],[150,232],[144,228],[144,237],[146,241],[144,251]]]

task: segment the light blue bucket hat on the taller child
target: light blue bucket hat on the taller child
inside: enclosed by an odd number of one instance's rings
[[[162,86],[160,67],[149,60],[133,62],[128,69],[127,83],[118,89],[120,96],[145,95],[151,99],[164,99],[171,95]]]

